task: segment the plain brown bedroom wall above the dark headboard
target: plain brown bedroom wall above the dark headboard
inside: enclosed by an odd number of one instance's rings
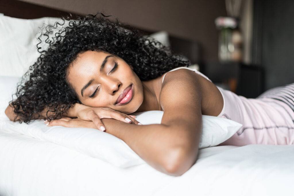
[[[120,21],[151,31],[199,41],[204,62],[218,59],[214,20],[226,16],[224,0],[21,0],[79,14],[103,11]],[[86,3],[85,3],[86,2]]]

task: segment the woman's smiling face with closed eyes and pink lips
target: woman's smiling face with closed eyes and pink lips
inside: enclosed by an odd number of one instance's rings
[[[69,66],[67,79],[78,99],[87,106],[110,107],[130,114],[143,102],[142,82],[133,68],[109,53],[91,50],[80,53]],[[129,93],[121,103],[116,103],[124,97],[120,95],[125,89]]]

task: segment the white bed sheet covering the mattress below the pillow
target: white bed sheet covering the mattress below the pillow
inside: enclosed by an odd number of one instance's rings
[[[117,168],[48,141],[0,130],[0,195],[288,195],[294,145],[216,146],[175,177],[141,164]]]

